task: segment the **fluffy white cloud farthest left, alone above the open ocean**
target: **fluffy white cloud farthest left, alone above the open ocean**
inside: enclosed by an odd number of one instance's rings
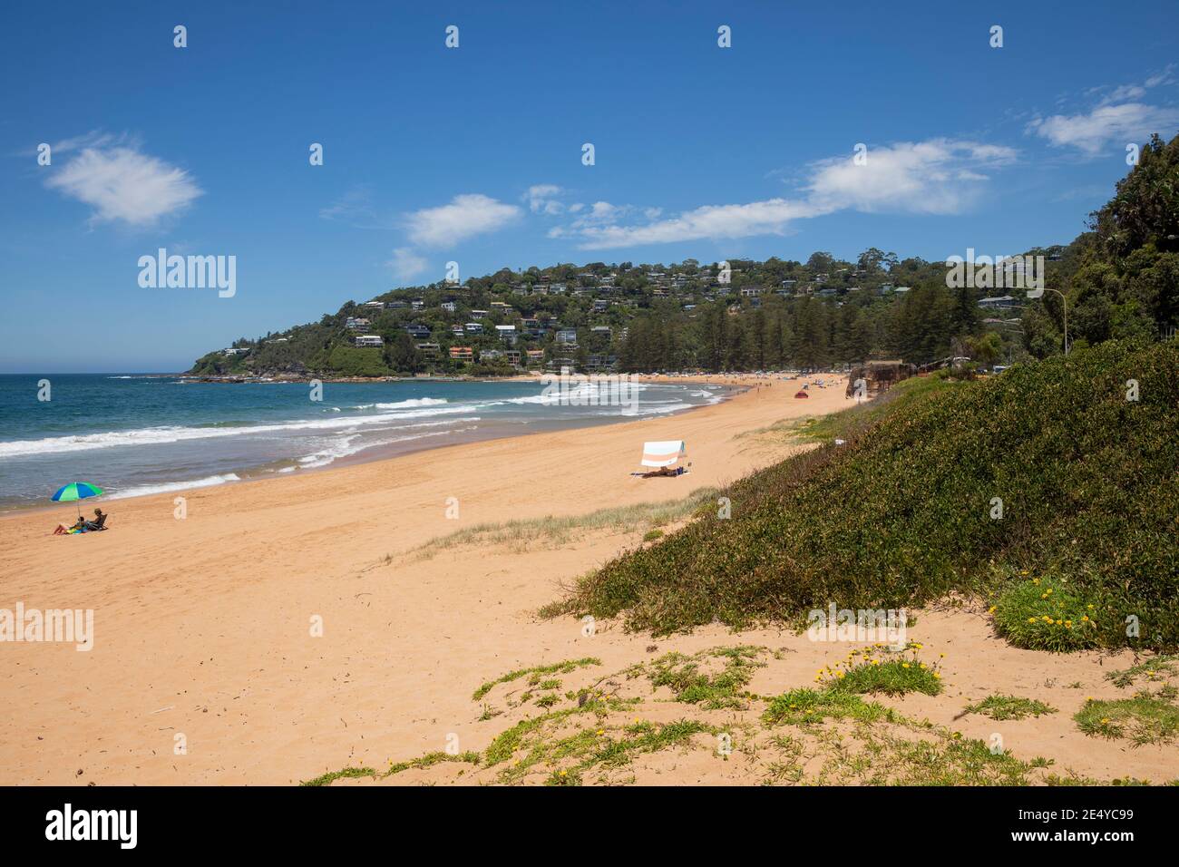
[[[92,222],[134,226],[178,214],[203,195],[189,172],[136,147],[84,147],[46,185],[93,206]]]

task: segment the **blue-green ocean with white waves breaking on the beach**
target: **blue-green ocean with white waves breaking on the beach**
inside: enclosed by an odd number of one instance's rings
[[[42,379],[48,400],[39,399]],[[732,393],[720,385],[633,388],[621,395],[628,406],[619,406],[617,389],[606,386],[581,385],[560,400],[544,395],[539,381],[325,382],[315,401],[305,382],[0,375],[0,511],[51,506],[53,492],[71,481],[98,485],[104,500],[184,491],[665,415]]]

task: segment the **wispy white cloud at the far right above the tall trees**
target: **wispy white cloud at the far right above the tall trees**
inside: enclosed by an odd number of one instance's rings
[[[1152,132],[1170,137],[1179,126],[1179,109],[1142,101],[1148,91],[1173,84],[1174,66],[1151,75],[1141,84],[1093,87],[1087,97],[1099,97],[1089,111],[1074,114],[1035,117],[1027,131],[1056,147],[1074,147],[1086,157],[1100,155],[1111,143],[1141,143]]]

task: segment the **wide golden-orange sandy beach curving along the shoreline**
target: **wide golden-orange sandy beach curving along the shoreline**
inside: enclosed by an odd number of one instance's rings
[[[773,422],[849,406],[824,377],[795,399],[772,381],[671,418],[459,445],[271,481],[111,504],[111,531],[54,537],[70,508],[0,519],[0,605],[93,609],[94,646],[0,648],[0,782],[6,784],[289,784],[348,766],[383,767],[444,749],[481,750],[512,721],[481,718],[472,691],[506,671],[594,656],[601,672],[656,652],[737,643],[720,626],[653,642],[536,609],[638,532],[594,531],[534,547],[456,545],[407,552],[480,523],[577,515],[671,501],[779,460],[802,446],[755,433]],[[737,381],[723,377],[711,381]],[[691,472],[630,475],[644,440],[684,439]],[[457,518],[448,518],[456,498]],[[449,501],[453,503],[453,501]],[[314,636],[322,622],[322,636]],[[1164,747],[1096,742],[1068,724],[1086,697],[1119,697],[1111,658],[1008,648],[968,610],[926,613],[914,635],[946,653],[947,694],[893,702],[905,712],[987,738],[996,723],[957,718],[989,691],[1048,695],[1061,714],[1001,724],[1017,755],[1050,755],[1099,776],[1179,775]],[[845,648],[779,630],[738,639],[782,656],[751,685],[806,685]],[[590,675],[580,676],[591,682]],[[578,675],[567,678],[578,685]],[[666,714],[674,714],[670,704]],[[178,751],[176,744],[183,743]],[[707,750],[703,751],[707,756]],[[752,758],[718,764],[697,754],[635,762],[639,782],[757,782]],[[444,769],[396,782],[443,781]],[[477,777],[468,777],[476,781]]]

